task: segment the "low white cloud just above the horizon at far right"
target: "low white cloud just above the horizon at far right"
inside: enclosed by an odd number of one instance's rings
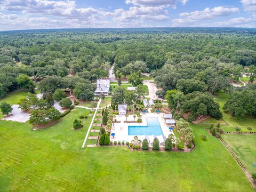
[[[214,26],[217,27],[255,27],[254,19],[252,18],[233,18],[228,21],[214,22]]]

